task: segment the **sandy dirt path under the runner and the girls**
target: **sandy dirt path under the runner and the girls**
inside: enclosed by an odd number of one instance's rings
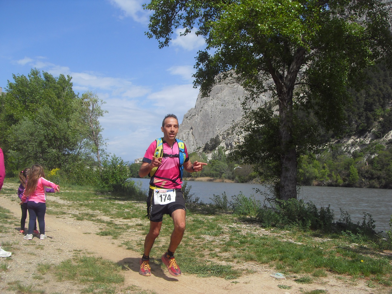
[[[11,188],[15,184],[4,184],[4,187]],[[18,185],[15,185],[16,189]],[[15,189],[15,191],[16,191]],[[17,198],[16,194],[15,197]],[[15,197],[0,195],[0,206],[9,209],[16,220],[20,219],[20,207]],[[48,205],[51,201],[62,201],[60,198],[49,196]],[[16,222],[17,223],[17,222]],[[129,221],[131,224],[131,221]],[[311,290],[325,290],[327,293],[347,293],[347,294],[372,294],[372,293],[392,293],[390,287],[370,288],[365,285],[365,281],[357,279],[351,281],[350,277],[338,277],[329,274],[326,278],[317,278],[311,284],[298,284],[293,278],[276,279],[270,276],[275,271],[263,265],[252,265],[255,270],[252,274],[245,274],[240,278],[225,280],[222,278],[200,278],[196,275],[183,273],[175,278],[169,274],[166,268],[152,264],[150,277],[139,274],[140,254],[136,251],[119,247],[125,238],[140,238],[132,236],[132,232],[125,234],[116,240],[111,236],[98,236],[99,227],[91,221],[78,221],[71,216],[56,217],[50,214],[45,216],[47,240],[23,240],[18,234],[19,227],[11,226],[7,232],[0,236],[1,242],[13,243],[11,251],[12,258],[6,261],[2,258],[0,262],[8,262],[9,268],[6,271],[0,270],[0,293],[13,294],[20,293],[12,290],[11,285],[15,281],[20,281],[24,285],[35,285],[36,289],[44,290],[45,293],[81,293],[85,285],[78,285],[74,281],[58,282],[56,277],[47,273],[43,280],[33,278],[36,274],[38,263],[59,264],[63,260],[71,258],[75,250],[81,252],[94,252],[107,260],[112,260],[123,265],[122,274],[125,276],[124,285],[118,285],[117,293],[135,293],[129,290],[132,285],[140,290],[154,291],[157,294],[204,294],[204,293],[249,293],[249,294],[294,294]],[[39,246],[41,245],[41,246]],[[158,257],[156,257],[158,258]],[[160,263],[161,264],[161,263]],[[244,265],[241,265],[243,267]],[[181,267],[181,264],[180,264]],[[280,289],[278,285],[287,285],[292,288]],[[139,290],[139,291],[140,291]],[[136,291],[138,292],[138,291]]]

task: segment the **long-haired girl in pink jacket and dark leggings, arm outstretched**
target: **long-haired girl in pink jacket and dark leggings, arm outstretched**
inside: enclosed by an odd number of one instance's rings
[[[45,187],[54,188],[58,192],[60,187],[51,181],[45,180],[44,168],[39,164],[34,164],[30,169],[27,178],[25,190],[22,194],[20,205],[22,205],[27,197],[27,209],[29,211],[29,232],[23,237],[25,240],[33,239],[33,227],[38,218],[38,227],[40,228],[40,240],[45,240],[45,212],[46,212],[46,193]]]

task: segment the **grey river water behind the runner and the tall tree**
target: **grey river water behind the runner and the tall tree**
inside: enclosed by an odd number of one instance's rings
[[[141,183],[142,189],[147,191],[149,179],[132,178],[135,183]],[[256,194],[254,188],[267,192],[267,187],[260,184],[250,183],[219,183],[205,181],[188,181],[192,186],[191,194],[199,197],[204,203],[211,203],[212,196],[226,192],[228,200],[231,196],[242,192],[245,196],[254,195],[261,202],[264,196]],[[364,188],[341,188],[341,187],[314,187],[302,186],[299,189],[298,199],[312,201],[317,207],[327,207],[334,211],[335,218],[340,218],[340,208],[350,214],[352,222],[360,223],[363,213],[370,213],[376,221],[376,230],[387,231],[390,229],[389,221],[392,214],[392,190],[387,189],[364,189]],[[389,204],[388,204],[389,203]]]

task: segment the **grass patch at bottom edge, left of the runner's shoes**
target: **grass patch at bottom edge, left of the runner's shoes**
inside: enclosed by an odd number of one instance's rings
[[[59,281],[71,280],[87,284],[83,290],[85,293],[92,293],[98,289],[101,293],[115,292],[116,288],[113,285],[124,282],[124,276],[120,271],[121,267],[112,261],[78,255],[54,267],[54,274]]]

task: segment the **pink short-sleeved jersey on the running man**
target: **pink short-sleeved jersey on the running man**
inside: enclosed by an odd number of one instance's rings
[[[185,162],[189,160],[187,147],[185,150]],[[150,163],[156,149],[156,141],[152,142],[144,154],[143,162]],[[164,154],[179,154],[178,143],[174,142],[173,147],[163,141]],[[180,179],[180,160],[178,157],[163,156],[162,164],[158,167],[154,176],[150,180],[150,185],[163,189],[181,189],[182,181]]]

